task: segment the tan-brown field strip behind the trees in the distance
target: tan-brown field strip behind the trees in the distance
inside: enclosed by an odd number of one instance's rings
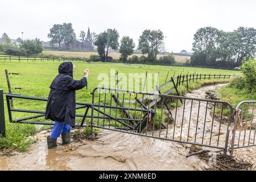
[[[97,52],[68,52],[68,51],[44,51],[43,53],[49,53],[52,55],[59,55],[59,56],[81,56],[85,58],[89,58],[90,55],[98,55]],[[142,54],[134,53],[133,55],[136,55],[138,57],[142,56]],[[120,57],[120,53],[110,52],[109,56],[113,57],[113,59],[117,60]],[[146,55],[144,55],[146,56]],[[157,57],[163,57],[166,55],[157,55]],[[131,56],[129,56],[131,57]],[[185,63],[187,59],[190,59],[190,56],[178,56],[174,55],[175,61],[177,63]]]

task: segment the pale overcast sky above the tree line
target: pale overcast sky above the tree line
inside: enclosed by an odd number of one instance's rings
[[[73,24],[77,37],[88,26],[96,34],[116,28],[138,46],[144,29],[161,29],[167,51],[191,51],[193,34],[200,27],[256,28],[255,7],[255,0],[1,0],[0,34],[18,38],[23,31],[24,39],[47,41],[53,24],[65,22]]]

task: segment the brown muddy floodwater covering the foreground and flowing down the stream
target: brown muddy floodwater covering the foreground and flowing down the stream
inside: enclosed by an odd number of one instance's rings
[[[219,89],[222,85],[205,86],[187,96],[205,98],[206,90]],[[187,105],[191,104],[187,102]],[[178,108],[177,113],[182,110],[183,107]],[[39,142],[32,144],[27,152],[0,156],[0,170],[205,170],[210,167],[196,155],[185,158],[190,144],[104,130],[97,140],[84,139],[67,146],[61,146],[59,138],[59,146],[48,150],[49,133],[37,134]],[[235,150],[234,156],[250,161],[252,169],[256,169],[256,147]]]

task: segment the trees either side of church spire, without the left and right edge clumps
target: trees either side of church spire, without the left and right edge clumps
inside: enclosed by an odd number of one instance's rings
[[[167,64],[175,62],[173,55],[168,55],[163,59],[157,59],[156,57],[156,55],[158,55],[160,51],[163,51],[164,48],[164,35],[161,30],[144,30],[142,32],[142,35],[139,37],[138,49],[141,50],[143,54],[147,54],[147,57],[143,56],[141,59],[137,56],[128,59],[128,57],[134,53],[135,44],[133,39],[129,36],[123,36],[119,43],[119,33],[115,28],[108,28],[108,30],[101,32],[98,35],[93,32],[91,36],[93,39],[93,47],[94,45],[97,46],[97,52],[101,61],[108,61],[109,49],[111,48],[114,51],[119,50],[121,53],[119,60],[121,61],[162,61]],[[81,38],[81,42],[84,43],[86,33],[80,31],[79,37]],[[65,48],[69,49],[69,45],[76,40],[76,34],[72,28],[72,23],[54,24],[49,31],[48,38],[51,39],[51,44],[57,43],[59,44],[59,48],[61,48],[61,43],[63,43]],[[94,60],[93,56],[92,59]]]

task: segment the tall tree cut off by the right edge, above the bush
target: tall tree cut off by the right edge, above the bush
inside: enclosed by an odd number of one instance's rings
[[[241,65],[242,60],[254,57],[256,52],[256,30],[255,28],[239,27],[234,32],[237,33],[236,39],[236,62]]]

